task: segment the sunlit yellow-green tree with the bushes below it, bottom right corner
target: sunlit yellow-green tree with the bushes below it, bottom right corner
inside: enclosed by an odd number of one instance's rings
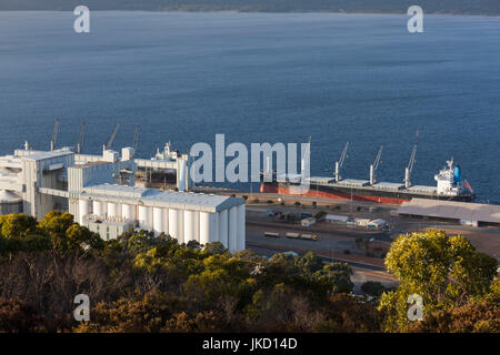
[[[448,326],[457,332],[486,328],[500,332],[497,266],[494,257],[477,252],[462,236],[447,236],[442,231],[399,236],[386,257],[386,267],[398,277],[399,286],[380,298],[379,311],[384,315],[382,328],[388,332],[442,331]],[[422,298],[427,327],[408,320],[408,298],[414,294]],[[489,303],[477,304],[484,300]],[[488,324],[481,328],[450,326],[450,322],[466,322],[457,315],[461,314],[460,310],[469,308],[478,310],[477,322]]]

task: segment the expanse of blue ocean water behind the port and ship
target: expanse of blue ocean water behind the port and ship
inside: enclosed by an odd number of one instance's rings
[[[24,140],[98,153],[151,156],[169,139],[307,142],[311,171],[332,174],[351,142],[344,178],[400,182],[417,141],[416,184],[454,158],[480,201],[500,203],[500,18],[92,12],[91,33],[71,12],[0,12],[0,153]],[[418,138],[416,136],[416,132]]]

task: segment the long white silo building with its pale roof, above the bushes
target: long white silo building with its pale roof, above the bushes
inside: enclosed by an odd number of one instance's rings
[[[137,227],[180,243],[244,248],[243,199],[102,184],[83,187],[71,204],[80,224],[106,240]]]

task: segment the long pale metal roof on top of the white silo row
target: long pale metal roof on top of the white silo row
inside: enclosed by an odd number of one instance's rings
[[[172,207],[182,210],[222,211],[244,203],[243,199],[192,193],[141,189],[113,184],[100,184],[83,187],[80,197],[88,196],[99,201],[143,204],[147,206]]]

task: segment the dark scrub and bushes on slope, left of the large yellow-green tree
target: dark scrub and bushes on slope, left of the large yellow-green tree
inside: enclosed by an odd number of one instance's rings
[[[2,216],[0,231],[1,331],[377,331],[374,307],[346,295],[351,270],[312,253],[231,255],[146,231],[103,242],[56,212]],[[84,324],[72,320],[81,293]]]

